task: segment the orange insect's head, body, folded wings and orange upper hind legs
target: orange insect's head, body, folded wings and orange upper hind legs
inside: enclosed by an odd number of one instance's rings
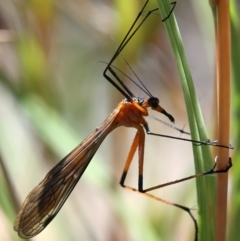
[[[153,102],[151,100],[154,100]],[[145,133],[143,127],[148,130],[144,116],[148,115],[148,108],[162,112],[170,120],[169,115],[158,104],[157,98],[132,98],[132,102],[123,100],[112,114],[80,145],[60,161],[27,196],[22,208],[15,220],[14,229],[22,238],[31,238],[40,233],[56,216],[71,191],[82,176],[92,157],[98,150],[105,137],[118,126],[134,127],[137,134],[124,168],[124,173],[131,163],[139,145],[140,169],[143,169],[143,147]],[[141,137],[141,138],[140,138]],[[134,146],[134,147],[133,147]],[[127,169],[126,169],[127,168]],[[123,185],[123,182],[121,182]]]

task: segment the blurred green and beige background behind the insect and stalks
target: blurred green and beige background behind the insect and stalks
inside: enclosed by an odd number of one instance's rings
[[[87,137],[123,99],[102,76],[144,1],[29,0],[0,2],[0,152],[17,203],[0,173],[0,239],[20,240],[13,230],[16,207],[45,174]],[[238,6],[239,7],[239,6]],[[156,8],[151,0],[148,9]],[[239,128],[239,20],[233,16],[234,167],[229,172],[229,240],[239,215],[237,153]],[[174,11],[186,47],[209,138],[215,132],[214,29],[208,1],[178,1]],[[235,42],[234,42],[235,41]],[[161,19],[148,19],[123,52],[138,77],[176,126],[188,131],[187,114],[171,48]],[[114,63],[133,76],[121,57]],[[136,96],[146,97],[129,80]],[[160,114],[154,116],[168,121]],[[180,136],[148,118],[152,131]],[[193,224],[184,212],[124,190],[119,179],[134,129],[111,133],[60,213],[32,240],[193,240]],[[146,138],[145,187],[194,172],[191,144]],[[213,148],[214,155],[214,148]],[[214,178],[214,177],[213,177]],[[137,186],[137,156],[127,183]],[[239,188],[238,188],[239,189]],[[154,192],[159,197],[196,207],[193,181]],[[19,207],[18,207],[19,208]],[[197,214],[197,212],[195,212]],[[239,222],[238,222],[239,223]]]

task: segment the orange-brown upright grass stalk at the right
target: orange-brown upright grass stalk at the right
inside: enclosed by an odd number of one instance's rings
[[[216,43],[217,43],[217,127],[218,141],[228,145],[230,137],[230,14],[229,1],[216,1]],[[229,150],[218,149],[218,169],[228,166]],[[226,240],[228,173],[217,175],[217,203],[215,240]]]

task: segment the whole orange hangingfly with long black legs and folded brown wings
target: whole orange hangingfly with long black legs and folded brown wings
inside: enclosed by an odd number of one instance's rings
[[[139,29],[142,23],[148,18],[148,16],[156,11],[157,9],[149,11],[143,20],[137,27],[135,24],[139,20],[140,16],[143,15],[143,11],[148,3],[148,0],[144,4],[141,12],[138,14],[133,25],[129,29],[127,35],[123,39],[116,53],[114,54],[111,61],[108,63],[104,70],[104,77],[120,91],[125,99],[122,100],[117,108],[110,114],[110,116],[98,127],[96,130],[87,137],[80,145],[78,145],[73,151],[71,151],[65,158],[63,158],[56,166],[52,168],[46,175],[46,177],[35,187],[24,201],[17,218],[14,223],[14,229],[18,232],[19,236],[22,238],[31,238],[40,233],[57,215],[68,196],[71,194],[73,188],[77,184],[78,180],[81,178],[85,169],[87,168],[89,162],[93,158],[94,154],[98,150],[99,146],[105,139],[105,137],[119,126],[133,127],[137,130],[135,138],[133,140],[131,149],[129,151],[126,164],[122,173],[120,184],[133,191],[141,192],[146,196],[157,199],[167,204],[174,205],[187,211],[195,224],[195,240],[197,240],[197,223],[191,214],[191,210],[187,207],[170,203],[158,197],[155,197],[148,191],[160,188],[162,186],[171,185],[176,182],[181,182],[188,180],[193,177],[198,177],[206,175],[209,173],[216,173],[214,168],[208,172],[193,175],[187,178],[180,179],[175,182],[167,183],[164,185],[158,185],[152,188],[143,189],[143,162],[144,162],[144,142],[145,142],[145,132],[150,135],[164,136],[161,134],[156,134],[150,132],[148,124],[145,120],[145,116],[148,116],[148,109],[152,109],[156,112],[165,115],[171,122],[174,122],[174,118],[170,115],[164,108],[159,104],[159,99],[152,96],[149,90],[140,81],[140,84],[135,83],[141,90],[143,90],[147,95],[148,99],[136,97],[127,86],[121,81],[116,72],[114,71],[114,66],[112,66],[113,61],[121,53],[122,49],[126,46],[129,40],[133,37],[135,32]],[[173,8],[175,7],[175,4]],[[172,11],[173,11],[172,8]],[[167,16],[164,20],[167,20]],[[135,29],[133,30],[133,28]],[[116,81],[107,74],[110,72]],[[117,84],[118,83],[118,84]],[[169,136],[165,136],[169,137]],[[175,138],[182,139],[182,138]],[[199,145],[215,145],[220,147],[225,147],[218,145],[217,143],[212,143],[209,141],[193,141],[188,139],[183,139],[197,143]],[[139,173],[138,173],[138,189],[125,186],[125,178],[132,161],[132,158],[138,148],[138,158],[139,158]],[[229,148],[229,147],[226,147]],[[230,163],[231,164],[231,163]],[[215,166],[214,166],[215,167]]]

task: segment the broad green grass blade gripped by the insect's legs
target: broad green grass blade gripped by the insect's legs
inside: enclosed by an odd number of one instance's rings
[[[164,18],[171,9],[169,1],[158,0],[157,2],[160,14]],[[181,79],[191,136],[196,140],[207,140],[208,137],[200,105],[196,97],[192,75],[174,14],[164,24]],[[193,155],[196,173],[206,171],[212,167],[212,157],[208,147],[193,146]],[[215,229],[215,179],[207,177],[198,178],[196,179],[196,186],[199,214],[198,223],[200,228],[198,240],[212,241],[214,240]]]

